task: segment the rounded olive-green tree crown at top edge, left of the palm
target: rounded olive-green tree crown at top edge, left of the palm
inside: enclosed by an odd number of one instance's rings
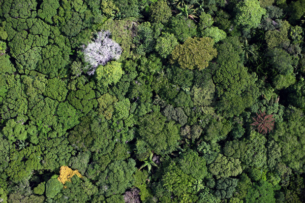
[[[170,7],[166,1],[156,1],[149,7],[150,21],[156,23],[166,23],[172,16]]]

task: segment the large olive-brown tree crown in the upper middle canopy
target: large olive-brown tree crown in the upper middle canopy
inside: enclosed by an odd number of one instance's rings
[[[176,61],[182,69],[203,70],[208,62],[217,56],[214,40],[210,38],[189,38],[177,45],[172,52],[171,63]]]

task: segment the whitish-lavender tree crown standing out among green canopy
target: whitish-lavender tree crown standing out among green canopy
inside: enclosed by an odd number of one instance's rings
[[[97,33],[96,39],[84,48],[84,59],[89,63],[87,74],[93,75],[99,65],[105,65],[110,60],[119,59],[122,49],[109,38],[111,32],[101,30]]]

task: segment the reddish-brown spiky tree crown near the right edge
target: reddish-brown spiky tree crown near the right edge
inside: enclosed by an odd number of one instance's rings
[[[256,118],[252,117],[254,122],[250,124],[253,126],[259,133],[266,134],[267,132],[272,131],[273,126],[275,125],[275,119],[273,118],[273,115],[267,115],[264,112],[259,111],[259,114],[256,113]]]

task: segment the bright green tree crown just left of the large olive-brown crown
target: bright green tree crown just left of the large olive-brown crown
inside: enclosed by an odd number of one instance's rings
[[[173,34],[162,32],[162,36],[157,39],[155,49],[161,57],[167,58],[176,45],[178,45],[178,42]]]

